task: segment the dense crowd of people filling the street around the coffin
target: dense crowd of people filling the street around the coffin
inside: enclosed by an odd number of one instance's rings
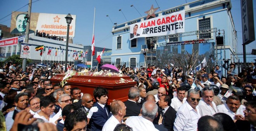
[[[22,71],[9,62],[0,69],[0,130],[255,131],[256,69],[239,73],[234,63],[226,66],[187,76],[171,65],[122,66],[119,73],[136,85],[122,92],[127,101],[107,103],[104,87],[88,94],[68,82],[53,84],[64,65]]]

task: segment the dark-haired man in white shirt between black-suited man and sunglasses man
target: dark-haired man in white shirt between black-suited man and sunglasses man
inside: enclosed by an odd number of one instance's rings
[[[186,102],[187,98],[185,98],[185,93],[186,90],[184,86],[177,88],[177,97],[171,99],[171,107],[173,107],[175,111],[178,111],[180,106]]]

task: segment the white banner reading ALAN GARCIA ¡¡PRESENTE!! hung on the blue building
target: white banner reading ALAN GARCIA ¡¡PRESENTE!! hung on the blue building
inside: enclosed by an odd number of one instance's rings
[[[130,25],[130,40],[185,32],[185,10]]]

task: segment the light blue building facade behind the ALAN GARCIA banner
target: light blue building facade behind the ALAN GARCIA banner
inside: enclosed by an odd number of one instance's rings
[[[196,0],[167,10],[156,12],[156,17],[185,10],[185,32],[162,37],[140,37],[129,40],[130,25],[146,20],[140,17],[129,22],[119,24],[112,29],[112,56],[114,62],[149,62],[153,60],[164,64],[173,63],[167,54],[192,54],[197,50],[203,57],[212,56],[214,63],[224,63],[222,59],[230,59],[230,54],[237,52],[237,35],[231,15],[230,0]],[[223,38],[223,44],[217,46],[216,37]],[[203,42],[196,42],[203,40]],[[143,50],[154,43],[154,49],[144,57]],[[180,44],[183,43],[183,44]],[[184,44],[185,43],[185,44]],[[171,46],[170,46],[171,45]],[[163,57],[160,59],[160,57]],[[235,61],[235,59],[233,60]]]

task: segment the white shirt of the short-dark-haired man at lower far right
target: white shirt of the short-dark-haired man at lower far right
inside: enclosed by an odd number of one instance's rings
[[[237,109],[237,112],[234,113],[228,108],[228,105],[225,103],[223,105],[217,106],[218,113],[225,113],[228,114],[233,120],[235,120],[235,115],[240,114],[244,117],[243,108],[246,108],[244,105],[240,105],[240,107]]]

